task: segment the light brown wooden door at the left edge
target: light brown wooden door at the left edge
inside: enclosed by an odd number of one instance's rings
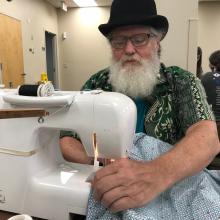
[[[17,88],[24,83],[21,21],[0,14],[0,84]]]

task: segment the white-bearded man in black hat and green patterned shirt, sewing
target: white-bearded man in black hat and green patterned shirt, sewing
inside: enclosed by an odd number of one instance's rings
[[[128,95],[137,106],[136,132],[173,145],[152,161],[123,158],[96,173],[95,198],[118,212],[148,204],[176,182],[196,174],[220,146],[200,82],[181,68],[160,64],[160,41],[168,21],[157,15],[154,0],[114,0],[110,19],[99,30],[110,43],[111,65],[93,75],[82,89]],[[60,140],[64,157],[90,163],[76,135],[66,135],[62,133]]]

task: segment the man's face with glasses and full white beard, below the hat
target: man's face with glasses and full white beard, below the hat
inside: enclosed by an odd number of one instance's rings
[[[129,26],[115,30],[110,43],[109,82],[114,90],[133,98],[150,95],[160,69],[158,37],[146,27]]]

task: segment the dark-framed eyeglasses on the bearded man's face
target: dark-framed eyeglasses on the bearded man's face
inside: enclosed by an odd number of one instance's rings
[[[152,33],[135,34],[130,37],[127,36],[112,36],[109,38],[111,46],[115,49],[123,49],[127,45],[128,40],[131,41],[134,47],[142,47],[149,43],[150,38],[156,37]]]

